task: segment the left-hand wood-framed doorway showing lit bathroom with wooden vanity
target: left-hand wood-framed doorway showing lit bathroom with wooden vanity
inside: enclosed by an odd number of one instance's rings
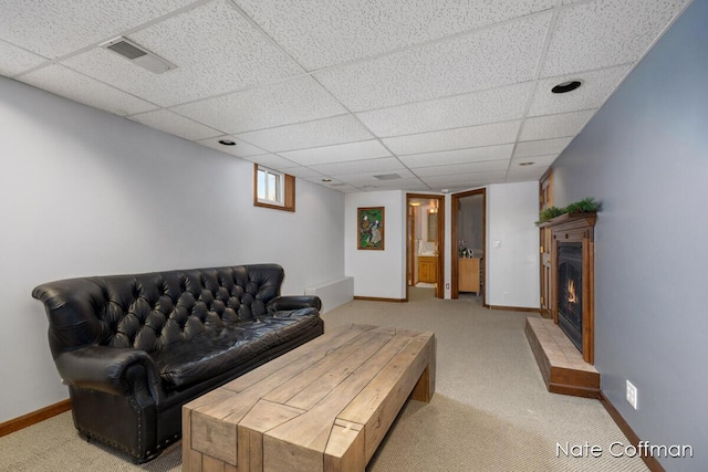
[[[445,197],[406,196],[406,300],[442,298]]]

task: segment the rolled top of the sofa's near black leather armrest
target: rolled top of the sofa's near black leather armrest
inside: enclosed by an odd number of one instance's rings
[[[60,354],[54,363],[69,386],[117,396],[136,395],[147,389],[155,402],[162,397],[155,363],[144,350],[85,346]]]

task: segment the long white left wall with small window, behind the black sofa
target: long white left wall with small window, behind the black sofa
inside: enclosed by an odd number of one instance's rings
[[[0,129],[0,422],[67,398],[42,282],[275,262],[302,294],[344,275],[340,192],[298,179],[295,213],[256,208],[251,162],[4,77]]]

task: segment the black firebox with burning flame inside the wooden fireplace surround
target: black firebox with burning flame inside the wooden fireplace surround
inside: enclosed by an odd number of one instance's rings
[[[583,352],[583,244],[558,245],[558,325]]]

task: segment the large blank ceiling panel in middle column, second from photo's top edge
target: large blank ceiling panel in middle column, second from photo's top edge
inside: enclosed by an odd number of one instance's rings
[[[354,112],[525,82],[535,73],[550,19],[535,15],[315,77]]]

